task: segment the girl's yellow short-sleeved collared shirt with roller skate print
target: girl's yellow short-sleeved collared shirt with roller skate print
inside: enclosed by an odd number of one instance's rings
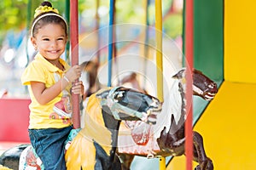
[[[26,70],[21,76],[21,82],[23,85],[28,86],[28,91],[32,103],[29,105],[30,109],[30,120],[29,127],[30,129],[40,129],[40,128],[61,128],[68,127],[72,124],[72,120],[66,116],[60,116],[57,114],[58,111],[54,111],[57,105],[60,109],[65,111],[72,112],[72,102],[70,88],[71,85],[67,86],[61,94],[59,94],[55,99],[49,101],[46,105],[40,105],[35,99],[31,83],[30,82],[44,82],[45,87],[49,88],[58,82],[61,77],[64,76],[65,72],[70,68],[69,65],[63,60],[60,59],[61,65],[64,66],[65,71],[61,71],[55,65],[49,63],[48,60],[44,59],[41,54],[37,54],[35,59],[26,67]],[[63,105],[64,104],[64,105]]]

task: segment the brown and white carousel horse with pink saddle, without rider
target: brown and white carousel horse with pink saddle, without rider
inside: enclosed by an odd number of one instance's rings
[[[170,94],[162,105],[157,123],[149,126],[143,122],[125,123],[119,128],[118,155],[123,169],[130,169],[134,156],[181,156],[184,154],[185,70],[174,75]],[[218,92],[218,86],[201,71],[193,71],[193,94],[208,101]],[[125,133],[122,133],[125,132]],[[212,160],[207,157],[200,133],[193,132],[194,161],[196,170],[212,170]]]

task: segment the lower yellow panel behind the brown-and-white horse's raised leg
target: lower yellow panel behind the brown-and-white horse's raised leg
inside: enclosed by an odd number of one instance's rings
[[[214,169],[256,169],[256,84],[224,82],[196,123]],[[175,157],[167,169],[185,169],[185,157]]]

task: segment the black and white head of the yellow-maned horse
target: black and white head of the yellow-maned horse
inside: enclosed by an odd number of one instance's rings
[[[96,97],[101,99],[102,109],[116,120],[155,124],[156,114],[161,111],[159,99],[131,88],[111,88],[96,94]]]

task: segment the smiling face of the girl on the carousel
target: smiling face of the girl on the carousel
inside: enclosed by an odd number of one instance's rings
[[[31,41],[45,59],[55,60],[65,51],[67,36],[61,25],[50,23],[40,28]]]

